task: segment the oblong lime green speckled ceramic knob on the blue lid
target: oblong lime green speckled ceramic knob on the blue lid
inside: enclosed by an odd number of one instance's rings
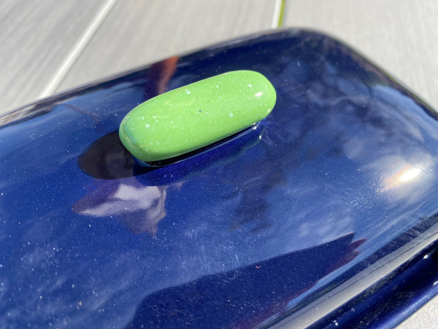
[[[161,161],[254,125],[275,102],[275,89],[264,75],[227,72],[141,103],[124,117],[119,136],[139,160]]]

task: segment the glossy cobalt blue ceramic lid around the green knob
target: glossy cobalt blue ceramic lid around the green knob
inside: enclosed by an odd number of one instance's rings
[[[255,129],[158,169],[121,145],[136,105],[246,69],[277,92]],[[436,293],[437,115],[327,36],[172,57],[0,124],[1,328],[389,328]]]

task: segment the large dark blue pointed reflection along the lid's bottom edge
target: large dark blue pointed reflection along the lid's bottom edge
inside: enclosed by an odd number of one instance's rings
[[[319,279],[352,261],[364,241],[336,240],[156,291],[126,328],[253,328],[283,313]],[[254,303],[257,300],[257,303]]]

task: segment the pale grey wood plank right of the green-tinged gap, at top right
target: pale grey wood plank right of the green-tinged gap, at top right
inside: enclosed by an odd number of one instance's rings
[[[288,0],[285,25],[350,44],[438,109],[438,1]]]

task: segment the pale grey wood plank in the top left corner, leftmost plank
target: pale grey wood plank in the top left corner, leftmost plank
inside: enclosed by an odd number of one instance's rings
[[[35,100],[102,0],[0,2],[0,114]]]

